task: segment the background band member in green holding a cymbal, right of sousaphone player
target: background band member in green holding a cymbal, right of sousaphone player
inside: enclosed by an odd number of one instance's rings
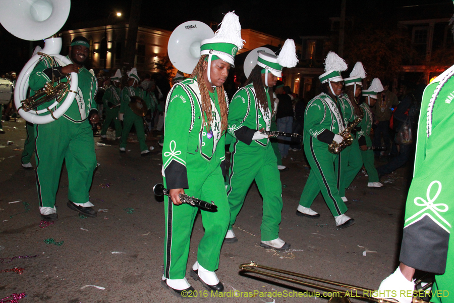
[[[136,68],[132,68],[132,70],[128,73],[129,79],[134,79],[134,84],[131,86],[126,86],[122,90],[122,105],[120,107],[120,113],[124,114],[124,122],[123,122],[123,132],[122,132],[122,139],[120,142],[120,152],[126,151],[126,144],[128,142],[129,132],[131,131],[132,126],[136,128],[137,133],[137,140],[139,140],[139,146],[142,156],[148,154],[150,151],[148,150],[148,146],[145,143],[145,130],[143,125],[143,117],[135,114],[131,108],[131,97],[138,96],[145,101],[145,104],[142,106],[146,106],[148,110],[151,109],[151,98],[150,95],[143,90],[139,83],[139,76],[137,76]],[[151,109],[153,112],[154,109]]]

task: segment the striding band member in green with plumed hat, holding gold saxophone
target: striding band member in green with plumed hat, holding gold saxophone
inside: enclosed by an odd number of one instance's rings
[[[325,59],[326,72],[318,77],[322,83],[322,93],[310,100],[307,105],[303,147],[311,170],[296,212],[298,216],[320,217],[311,209],[311,205],[321,191],[338,228],[355,224],[354,219],[345,215],[348,209],[337,189],[340,180],[334,171],[334,163],[340,162],[342,154],[331,154],[328,151],[330,143],[333,141],[341,143],[344,140],[338,135],[345,129],[338,97],[344,86],[341,72],[346,69],[345,61],[335,53],[329,52]]]

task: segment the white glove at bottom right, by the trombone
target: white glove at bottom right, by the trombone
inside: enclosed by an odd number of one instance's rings
[[[394,273],[390,274],[386,279],[381,281],[380,287],[378,287],[378,298],[393,298],[401,303],[411,303],[412,295],[401,296],[401,293],[409,294],[415,289],[415,283],[407,280],[398,267]],[[374,296],[375,297],[375,296]]]

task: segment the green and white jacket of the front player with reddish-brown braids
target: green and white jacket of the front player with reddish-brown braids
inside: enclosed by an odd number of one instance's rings
[[[220,165],[225,175],[225,136],[221,133],[216,90],[210,93],[210,97],[213,121],[211,133],[207,133],[203,127],[202,100],[197,80],[186,79],[176,83],[167,95],[162,147],[162,176],[165,177],[167,189],[189,187],[187,154],[198,154],[198,161]],[[226,94],[225,101],[228,105]]]

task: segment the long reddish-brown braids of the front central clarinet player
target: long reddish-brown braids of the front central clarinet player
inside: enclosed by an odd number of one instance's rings
[[[213,117],[211,115],[211,98],[208,91],[208,87],[206,87],[204,79],[204,73],[207,72],[206,65],[208,62],[206,58],[208,55],[202,55],[197,63],[196,67],[192,71],[190,76],[191,79],[196,79],[199,85],[200,95],[202,97],[202,112],[203,112],[203,125],[206,128],[206,131],[209,132],[211,129],[211,122],[213,121]],[[224,86],[216,87],[217,92],[217,100],[219,103],[220,108],[220,115],[221,115],[221,132],[222,134],[224,131],[227,130],[227,115],[228,115],[228,108],[227,102],[225,100],[225,91]],[[206,116],[206,119],[205,119]]]

